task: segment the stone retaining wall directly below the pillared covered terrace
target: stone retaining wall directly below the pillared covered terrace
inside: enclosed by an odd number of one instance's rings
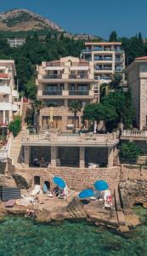
[[[62,177],[70,189],[81,190],[92,187],[93,183],[98,179],[104,179],[109,183],[110,189],[116,188],[120,181],[120,168],[68,168],[68,167],[54,167],[54,168],[24,168],[16,170],[16,173],[25,177],[27,182],[34,184],[34,177],[41,177],[41,184],[44,181],[49,181],[52,185],[52,177]]]

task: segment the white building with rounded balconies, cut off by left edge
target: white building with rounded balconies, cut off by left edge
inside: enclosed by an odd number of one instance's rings
[[[7,125],[18,112],[18,105],[14,100],[19,97],[14,84],[16,76],[14,61],[0,60],[0,124]]]

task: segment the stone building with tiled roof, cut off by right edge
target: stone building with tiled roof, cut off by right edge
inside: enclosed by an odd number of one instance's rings
[[[131,87],[139,130],[147,129],[147,56],[136,58],[125,70]]]

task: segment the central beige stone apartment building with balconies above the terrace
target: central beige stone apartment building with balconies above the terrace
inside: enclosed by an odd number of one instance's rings
[[[40,111],[41,129],[71,129],[74,115],[71,102],[84,108],[98,102],[98,82],[94,82],[93,62],[68,56],[59,61],[42,62],[37,67],[37,99],[46,107]],[[77,113],[76,128],[82,125],[82,112]]]

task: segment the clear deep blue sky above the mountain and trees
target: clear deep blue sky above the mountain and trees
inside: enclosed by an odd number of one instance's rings
[[[0,0],[0,13],[9,9],[30,9],[72,33],[147,38],[147,0]]]

